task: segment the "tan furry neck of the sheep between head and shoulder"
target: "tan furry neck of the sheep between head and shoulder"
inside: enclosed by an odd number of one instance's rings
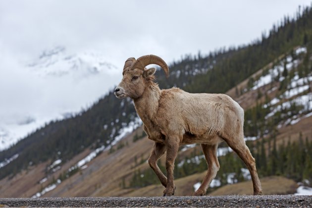
[[[158,109],[158,102],[160,98],[160,89],[156,84],[147,86],[143,95],[133,100],[135,109],[142,119],[143,123],[147,126],[153,125],[154,116]]]

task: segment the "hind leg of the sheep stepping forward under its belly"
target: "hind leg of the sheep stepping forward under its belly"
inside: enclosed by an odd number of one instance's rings
[[[208,171],[207,174],[203,180],[203,183],[199,187],[199,189],[194,192],[193,196],[204,196],[206,194],[206,191],[209,187],[209,184],[211,183],[212,179],[216,176],[220,165],[217,157],[217,148],[218,145],[207,145],[207,144],[201,144],[205,158],[207,160],[208,164]]]

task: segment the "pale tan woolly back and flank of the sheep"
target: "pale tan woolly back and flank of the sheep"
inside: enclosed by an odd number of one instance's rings
[[[191,94],[169,89],[162,91],[159,107],[166,126],[198,136],[216,135],[241,116],[244,119],[239,104],[224,94]]]

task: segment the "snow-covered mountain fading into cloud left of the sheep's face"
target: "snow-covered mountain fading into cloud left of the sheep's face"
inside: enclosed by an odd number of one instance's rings
[[[42,52],[16,72],[22,82],[15,81],[1,93],[5,102],[0,109],[0,151],[51,120],[89,107],[121,76],[101,53],[70,53],[65,47]]]

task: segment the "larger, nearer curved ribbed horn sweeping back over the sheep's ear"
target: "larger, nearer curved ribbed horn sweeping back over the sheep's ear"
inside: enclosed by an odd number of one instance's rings
[[[156,56],[156,55],[143,55],[141,57],[139,57],[131,66],[131,69],[135,69],[135,68],[141,68],[144,69],[144,67],[146,67],[149,64],[157,64],[158,66],[160,66],[165,74],[166,77],[169,76],[169,68],[166,64],[166,62],[164,60],[162,60],[162,58]]]

